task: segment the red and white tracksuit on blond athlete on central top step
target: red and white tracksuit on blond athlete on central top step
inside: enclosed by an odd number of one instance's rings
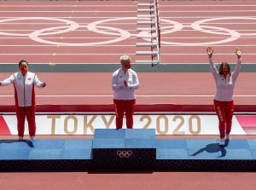
[[[128,87],[125,87],[124,81],[127,81]],[[125,112],[127,129],[133,127],[133,113],[136,104],[135,89],[139,88],[137,73],[131,69],[126,72],[119,68],[112,75],[113,104],[116,113],[116,128],[123,127],[123,118]]]

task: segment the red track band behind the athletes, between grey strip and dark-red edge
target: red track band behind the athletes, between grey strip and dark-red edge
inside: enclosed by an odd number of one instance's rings
[[[8,78],[11,73],[3,73]],[[112,73],[38,73],[38,78],[47,83],[45,89],[37,90],[38,104],[111,104]],[[137,104],[212,104],[215,84],[211,73],[138,73],[140,89],[137,89]],[[195,80],[200,78],[200,80]],[[235,95],[254,95],[253,97],[236,97],[236,105],[254,104],[256,102],[254,73],[241,73],[235,89]],[[97,84],[97,85],[95,85]],[[3,89],[3,88],[1,88]],[[12,85],[0,90],[0,95],[14,95]],[[40,95],[44,95],[43,97]],[[47,96],[49,95],[49,96]],[[52,97],[50,95],[57,95]],[[60,96],[59,96],[60,95]],[[70,95],[61,96],[61,95]],[[78,96],[72,96],[78,95]],[[85,95],[79,97],[79,95]],[[98,96],[96,96],[98,95]],[[155,95],[158,95],[155,97]],[[166,97],[166,96],[170,97]],[[186,96],[188,95],[188,96]],[[198,97],[196,95],[206,95]],[[3,97],[0,105],[14,104],[14,97]]]

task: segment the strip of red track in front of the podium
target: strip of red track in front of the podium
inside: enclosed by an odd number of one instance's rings
[[[254,190],[255,173],[247,172],[44,172],[44,173],[2,173],[1,187],[4,190],[20,189],[111,189],[111,190],[169,190],[218,189]],[[26,183],[25,183],[26,182]],[[44,188],[43,188],[44,187]]]

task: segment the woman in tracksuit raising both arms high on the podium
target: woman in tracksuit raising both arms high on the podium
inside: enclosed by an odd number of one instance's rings
[[[212,60],[213,49],[207,48],[207,55],[212,71],[212,76],[216,83],[216,94],[214,97],[214,109],[218,115],[218,130],[220,135],[220,146],[224,146],[225,137],[230,139],[230,131],[232,127],[232,118],[234,112],[233,94],[236,79],[241,70],[241,49],[236,49],[236,69],[231,72],[230,65],[223,62],[218,71]]]

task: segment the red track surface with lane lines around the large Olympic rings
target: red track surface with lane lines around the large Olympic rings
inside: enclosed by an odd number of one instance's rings
[[[124,5],[124,4],[125,5]],[[43,4],[44,6],[39,6]],[[79,27],[73,32],[64,32],[51,35],[40,35],[44,40],[49,40],[54,43],[99,43],[106,42],[110,39],[119,37],[119,32],[113,31],[113,29],[104,28],[112,27],[116,29],[122,29],[128,31],[132,36],[116,43],[104,43],[98,46],[88,47],[56,47],[56,44],[40,43],[33,41],[29,37],[16,36],[3,36],[1,37],[1,45],[4,47],[0,54],[0,59],[3,62],[14,63],[20,60],[20,56],[26,56],[26,60],[30,62],[81,62],[81,63],[116,63],[119,55],[128,54],[131,55],[132,60],[148,60],[148,56],[135,55],[137,50],[149,50],[143,48],[136,48],[137,42],[146,42],[142,39],[137,39],[137,2],[108,2],[106,5],[101,6],[99,2],[72,2],[68,3],[68,6],[57,6],[58,3],[29,3],[30,6],[26,6],[27,3],[12,3],[3,2],[0,6],[0,16],[2,20],[9,17],[47,17],[60,18],[62,20],[73,20],[79,23]],[[3,6],[5,5],[5,6]],[[23,5],[20,9],[19,5]],[[66,5],[66,4],[65,4]],[[248,6],[250,5],[250,6]],[[255,62],[255,53],[253,48],[255,44],[255,31],[256,20],[254,19],[254,11],[256,8],[254,2],[160,2],[160,18],[161,18],[161,61],[164,63],[205,63],[206,45],[219,40],[232,38],[231,34],[226,32],[226,29],[239,32],[242,36],[236,40],[216,43],[214,45],[216,59],[222,61],[233,61],[234,49],[237,46],[241,46],[244,53],[243,60],[247,63]],[[57,11],[53,11],[57,9]],[[1,12],[4,11],[4,12]],[[21,12],[19,12],[21,11]],[[35,11],[29,13],[29,11]],[[36,12],[38,11],[38,12]],[[49,12],[44,12],[49,11]],[[3,14],[3,15],[2,15]],[[219,19],[220,17],[233,16],[240,17],[240,19]],[[113,18],[121,18],[122,20],[108,20]],[[131,19],[129,17],[133,17]],[[244,17],[250,17],[251,19]],[[207,21],[203,26],[210,26],[210,28],[204,28],[211,32],[199,32],[190,27],[195,21],[206,20],[215,18],[215,20]],[[107,21],[108,20],[108,21]],[[168,20],[175,21],[179,24],[183,24],[183,30],[177,32],[167,32],[171,30],[174,25],[168,23]],[[105,32],[104,34],[99,32],[90,32],[85,27],[88,24],[102,21],[102,24],[97,25],[99,31]],[[38,23],[38,24],[37,24]],[[20,28],[20,26],[23,26]],[[66,26],[66,23],[56,20],[12,20],[4,21],[1,23],[0,32],[11,32],[15,34],[26,33],[29,34],[32,31],[38,29],[44,29],[54,26]],[[103,28],[102,28],[103,26]],[[218,33],[216,29],[211,28],[219,27]],[[168,27],[168,28],[166,28]],[[223,29],[221,29],[223,28]],[[61,28],[63,29],[63,28]],[[61,30],[58,29],[58,30]],[[25,31],[24,31],[25,30]],[[51,31],[52,32],[52,31]],[[109,32],[106,34],[106,32]],[[253,33],[252,35],[244,36],[244,34]],[[44,34],[44,32],[43,32]],[[102,38],[103,37],[103,38]],[[193,38],[194,37],[194,38]],[[172,43],[189,43],[185,46],[173,45]],[[201,43],[195,45],[195,43]],[[27,45],[30,45],[26,47]],[[11,45],[10,47],[8,45]],[[19,47],[19,45],[22,45]],[[44,45],[48,45],[49,49]],[[7,55],[5,55],[7,54]],[[53,56],[55,55],[55,56]],[[73,55],[73,56],[72,56]],[[108,59],[105,56],[108,55]],[[70,59],[72,57],[72,59]]]

